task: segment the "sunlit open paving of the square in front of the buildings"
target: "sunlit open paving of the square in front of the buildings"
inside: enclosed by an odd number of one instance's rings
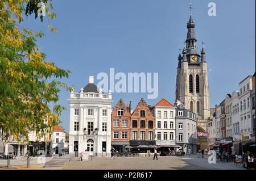
[[[207,156],[208,157],[208,156]],[[93,157],[92,161],[71,161],[65,163],[63,169],[85,169],[85,170],[222,170],[232,169],[241,170],[241,165],[234,165],[234,163],[216,164],[208,163],[208,158],[197,158],[197,155],[183,156],[183,157],[158,157],[158,160],[153,160],[152,157],[117,157],[111,158],[97,158]]]

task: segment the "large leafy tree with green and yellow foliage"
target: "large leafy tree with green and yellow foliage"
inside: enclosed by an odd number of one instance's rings
[[[65,108],[57,104],[62,88],[71,90],[60,79],[68,78],[69,70],[46,61],[46,54],[36,46],[43,32],[20,26],[23,12],[38,16],[39,2],[46,4],[48,19],[51,12],[47,0],[0,0],[0,131],[2,139],[13,135],[17,141],[28,141],[28,133],[35,131],[40,138],[53,125],[60,123],[59,116]],[[26,9],[25,9],[26,6]],[[43,21],[43,16],[40,16]],[[48,30],[56,32],[50,24]],[[53,103],[53,107],[49,107]]]

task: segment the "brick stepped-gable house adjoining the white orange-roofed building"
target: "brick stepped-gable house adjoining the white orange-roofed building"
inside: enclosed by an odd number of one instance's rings
[[[155,145],[155,116],[142,98],[130,120],[130,146]]]

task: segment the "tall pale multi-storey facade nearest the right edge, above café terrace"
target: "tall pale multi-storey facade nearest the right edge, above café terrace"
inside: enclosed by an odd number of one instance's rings
[[[247,140],[251,140],[251,108],[250,108],[250,92],[253,90],[253,76],[249,75],[239,83],[240,88],[240,120],[241,134]]]

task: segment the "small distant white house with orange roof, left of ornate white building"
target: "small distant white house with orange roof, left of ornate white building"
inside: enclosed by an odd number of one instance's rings
[[[51,154],[60,154],[61,148],[65,147],[66,133],[60,126],[53,127],[51,136]]]

